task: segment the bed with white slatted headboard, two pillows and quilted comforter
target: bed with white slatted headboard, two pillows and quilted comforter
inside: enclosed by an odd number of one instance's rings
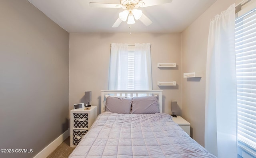
[[[216,158],[162,113],[162,90],[101,92],[102,113],[69,158]]]

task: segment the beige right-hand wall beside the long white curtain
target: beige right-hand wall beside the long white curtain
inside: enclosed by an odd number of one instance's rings
[[[210,20],[241,0],[217,0],[182,32],[182,73],[202,72],[202,78],[182,78],[182,117],[191,123],[191,136],[204,146],[206,53]]]

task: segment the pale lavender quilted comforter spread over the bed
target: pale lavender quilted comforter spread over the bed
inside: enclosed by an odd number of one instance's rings
[[[104,112],[70,158],[215,158],[168,114]]]

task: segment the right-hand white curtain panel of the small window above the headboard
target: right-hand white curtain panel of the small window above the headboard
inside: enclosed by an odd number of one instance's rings
[[[135,44],[134,90],[152,90],[150,43]]]

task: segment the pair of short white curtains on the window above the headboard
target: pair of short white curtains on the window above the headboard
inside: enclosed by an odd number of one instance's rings
[[[152,90],[151,44],[135,44],[134,90]],[[127,90],[128,44],[111,44],[109,90]]]

